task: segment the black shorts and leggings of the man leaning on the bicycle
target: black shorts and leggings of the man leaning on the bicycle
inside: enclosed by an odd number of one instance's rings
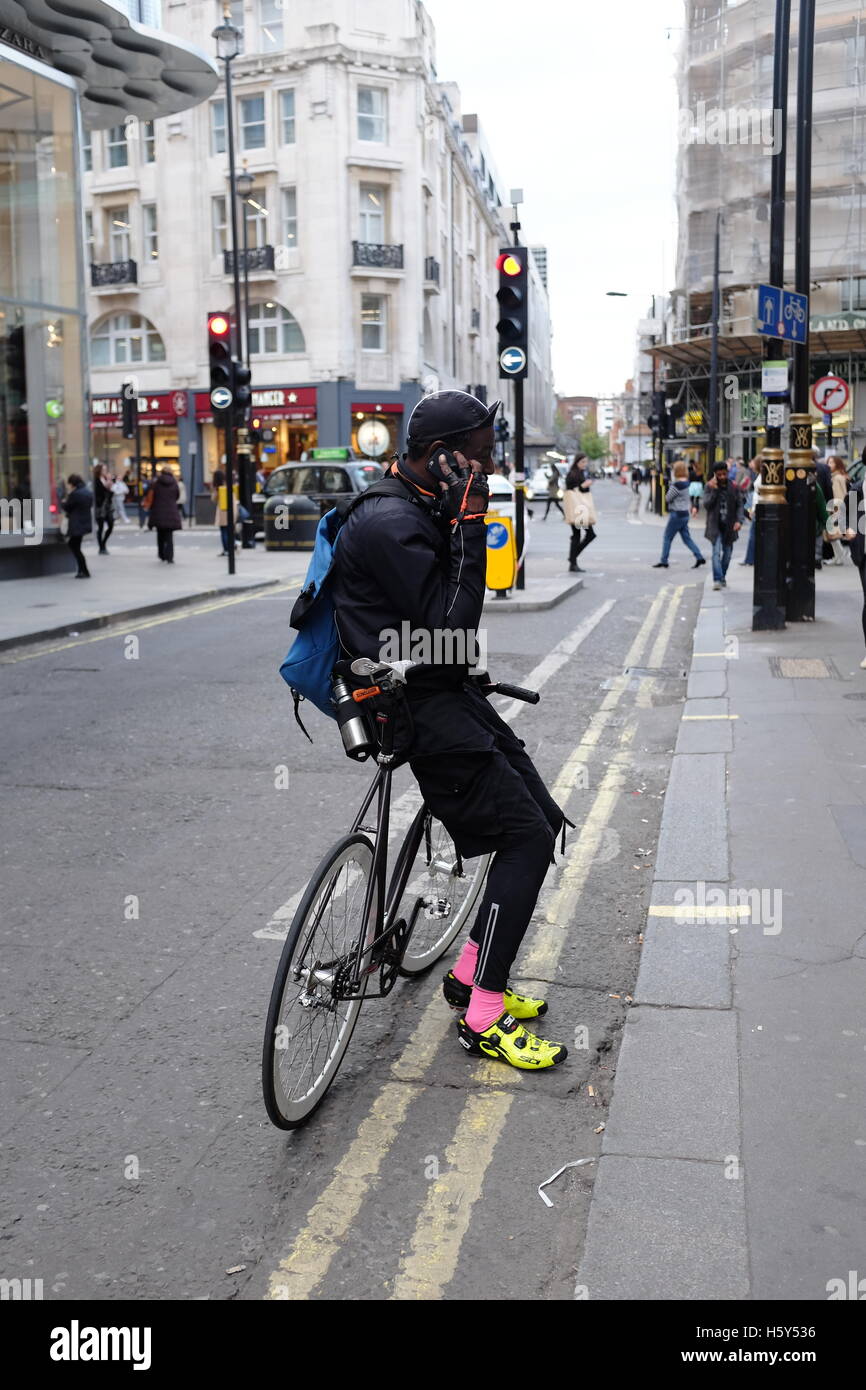
[[[495,855],[471,938],[480,945],[475,984],[502,991],[564,816],[520,739],[481,695],[467,689],[413,701],[413,716],[411,770],[428,806],[467,859]]]

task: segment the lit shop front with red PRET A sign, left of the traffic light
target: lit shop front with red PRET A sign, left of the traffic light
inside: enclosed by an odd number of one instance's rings
[[[124,439],[120,396],[95,396],[90,402],[90,463],[108,466],[129,486],[129,502],[160,468],[171,468],[181,481],[181,425],[186,416],[185,391],[161,391],[138,398],[138,436]]]

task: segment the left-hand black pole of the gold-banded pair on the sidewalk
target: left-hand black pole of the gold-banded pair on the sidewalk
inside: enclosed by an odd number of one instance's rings
[[[777,142],[770,168],[770,284],[781,288],[785,275],[785,175],[788,147],[788,50],[791,0],[776,0],[776,49],[773,58],[773,122]],[[778,122],[778,125],[776,125]],[[783,343],[770,338],[765,360],[778,361]],[[778,407],[777,407],[778,409]],[[778,631],[785,626],[785,569],[788,506],[784,486],[781,425],[767,416],[766,448],[760,460],[760,500],[755,506],[755,587],[752,631]]]

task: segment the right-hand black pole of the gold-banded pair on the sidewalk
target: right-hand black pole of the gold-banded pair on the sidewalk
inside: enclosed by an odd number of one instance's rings
[[[815,57],[815,0],[799,0],[796,49],[796,217],[795,289],[808,295],[812,282],[812,67]],[[815,620],[815,459],[809,414],[809,317],[805,341],[794,345],[794,411],[785,474],[788,495],[790,623]]]

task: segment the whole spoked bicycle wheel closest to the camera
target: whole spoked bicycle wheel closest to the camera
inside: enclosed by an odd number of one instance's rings
[[[296,1129],[313,1115],[349,1047],[367,980],[352,999],[335,998],[335,983],[364,930],[371,873],[373,845],[366,835],[346,835],[310,878],[289,927],[261,1055],[264,1104],[278,1129]],[[373,906],[367,940],[375,930],[375,898]]]

